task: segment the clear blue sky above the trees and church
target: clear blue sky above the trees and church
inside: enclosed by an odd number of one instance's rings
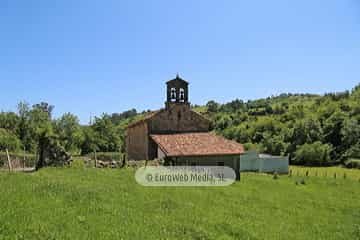
[[[0,1],[0,110],[157,109],[177,72],[194,104],[351,89],[360,2]]]

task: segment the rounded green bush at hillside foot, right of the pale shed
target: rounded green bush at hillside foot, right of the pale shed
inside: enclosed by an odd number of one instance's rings
[[[312,144],[304,144],[297,148],[294,162],[306,165],[322,165],[329,163],[332,147],[319,141]]]

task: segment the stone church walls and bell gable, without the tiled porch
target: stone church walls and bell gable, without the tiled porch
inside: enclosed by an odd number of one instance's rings
[[[165,108],[148,114],[127,128],[127,155],[131,160],[151,160],[158,157],[157,146],[150,137],[153,134],[209,131],[210,121],[190,108],[189,83],[177,76],[168,81],[166,86]]]

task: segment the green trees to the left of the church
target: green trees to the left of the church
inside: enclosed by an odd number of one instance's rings
[[[0,113],[0,151],[38,154],[39,166],[63,163],[71,155],[94,151],[124,152],[125,128],[139,117],[132,109],[120,114],[103,114],[89,125],[65,113],[53,118],[54,106],[42,102],[18,104],[17,112]]]

